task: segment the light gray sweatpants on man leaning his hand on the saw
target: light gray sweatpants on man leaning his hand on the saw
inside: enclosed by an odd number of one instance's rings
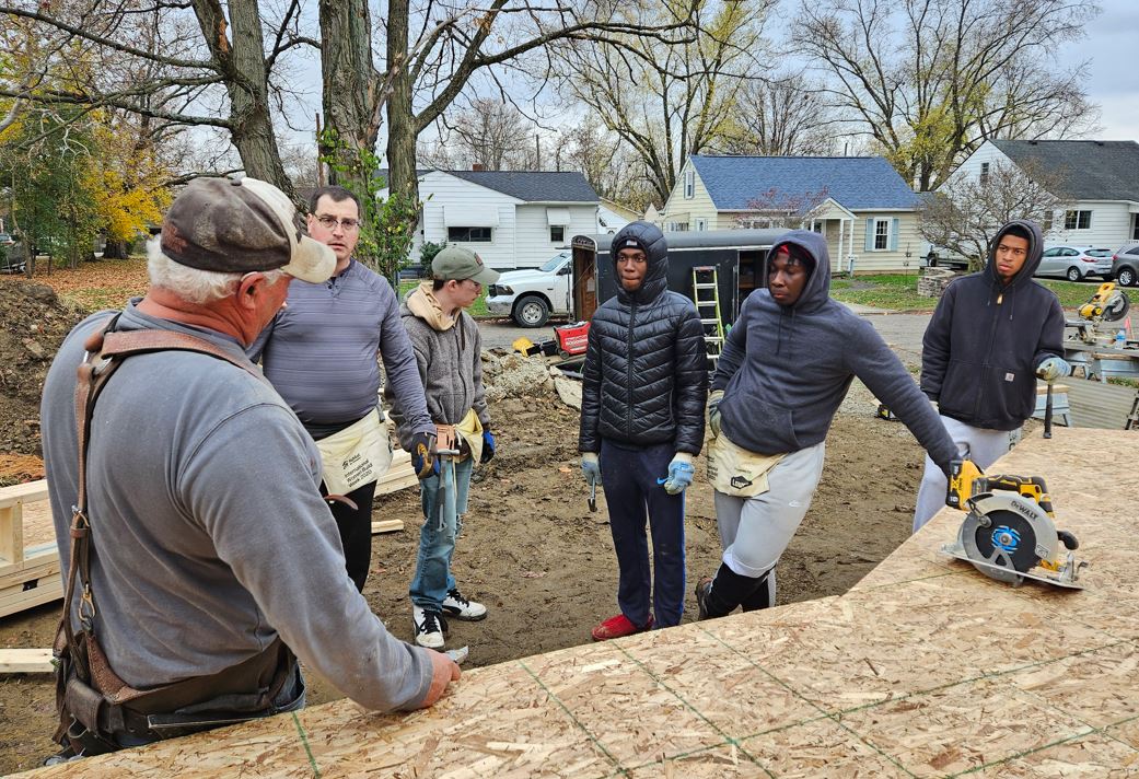
[[[822,474],[826,444],[793,452],[768,472],[768,491],[736,498],[715,491],[715,519],[723,561],[740,576],[768,576],[770,602],[776,598],[775,566],[811,507]]]

